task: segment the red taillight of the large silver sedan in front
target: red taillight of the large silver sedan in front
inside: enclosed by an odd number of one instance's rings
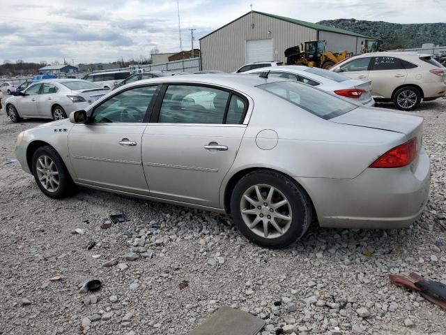
[[[417,157],[417,137],[394,147],[380,156],[369,168],[401,168],[409,165]]]

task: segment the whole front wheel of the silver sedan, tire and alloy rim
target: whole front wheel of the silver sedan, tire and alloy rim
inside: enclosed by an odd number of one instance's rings
[[[33,174],[40,191],[49,198],[64,198],[74,184],[61,156],[53,147],[45,146],[33,155]]]

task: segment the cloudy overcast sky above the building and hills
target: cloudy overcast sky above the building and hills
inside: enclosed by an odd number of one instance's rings
[[[254,10],[318,22],[338,18],[397,23],[441,22],[446,0],[179,0],[183,49]],[[148,57],[179,50],[176,0],[1,0],[0,61],[75,64]]]

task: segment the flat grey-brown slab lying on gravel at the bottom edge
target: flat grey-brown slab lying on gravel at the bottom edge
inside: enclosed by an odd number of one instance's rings
[[[206,322],[187,335],[255,335],[265,320],[229,306],[219,308]]]

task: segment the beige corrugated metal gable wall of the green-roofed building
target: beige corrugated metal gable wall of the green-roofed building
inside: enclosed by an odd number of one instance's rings
[[[245,64],[246,41],[267,38],[273,40],[274,59],[272,60],[284,61],[286,48],[298,45],[305,40],[314,40],[316,36],[315,29],[259,13],[249,13],[201,39],[201,65],[203,70],[233,72]],[[266,61],[270,60],[266,59]]]

